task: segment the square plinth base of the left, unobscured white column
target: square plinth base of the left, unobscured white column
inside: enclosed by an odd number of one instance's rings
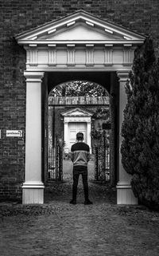
[[[22,203],[44,203],[44,183],[42,182],[25,182],[22,186]]]

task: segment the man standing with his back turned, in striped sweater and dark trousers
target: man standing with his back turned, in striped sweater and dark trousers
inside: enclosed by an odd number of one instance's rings
[[[72,186],[72,200],[70,203],[76,204],[77,186],[79,176],[82,175],[83,190],[85,201],[84,204],[92,204],[88,199],[88,183],[87,183],[87,163],[90,160],[90,148],[87,144],[83,143],[83,133],[76,134],[77,143],[72,145],[71,160],[73,162],[73,186]]]

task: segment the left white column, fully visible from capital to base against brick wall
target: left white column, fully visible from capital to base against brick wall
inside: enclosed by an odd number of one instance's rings
[[[25,72],[25,183],[22,203],[44,203],[44,184],[41,182],[41,79],[43,72]]]

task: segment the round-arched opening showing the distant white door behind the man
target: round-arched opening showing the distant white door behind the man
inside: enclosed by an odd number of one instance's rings
[[[110,81],[105,83],[110,86]],[[111,156],[110,164],[110,152],[114,155],[114,144],[109,143],[111,132],[106,127],[108,122],[111,122],[110,95],[101,85],[91,81],[68,81],[51,90],[48,94],[49,183],[62,182],[66,178],[64,167],[70,165],[71,146],[76,143],[77,132],[83,132],[84,142],[90,147],[94,180],[110,181],[110,169],[114,171],[114,156]],[[114,133],[111,138],[113,136]]]

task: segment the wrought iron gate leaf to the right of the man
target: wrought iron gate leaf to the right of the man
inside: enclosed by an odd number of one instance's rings
[[[110,180],[110,147],[103,136],[102,143],[95,146],[95,181]]]

